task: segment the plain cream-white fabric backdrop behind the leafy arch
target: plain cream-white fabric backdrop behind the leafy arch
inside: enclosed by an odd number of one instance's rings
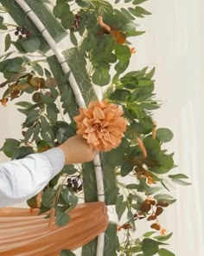
[[[156,98],[163,106],[156,110],[155,118],[159,127],[174,132],[174,140],[167,146],[170,152],[175,152],[175,163],[179,166],[176,171],[187,174],[193,183],[190,187],[172,188],[177,203],[163,213],[161,222],[168,232],[174,232],[170,248],[177,256],[203,256],[204,3],[151,0],[143,7],[153,15],[138,20],[146,34],[134,40],[137,54],[132,57],[130,69],[156,67]],[[3,38],[0,36],[0,41]],[[21,136],[23,116],[12,103],[6,108],[0,106],[0,116],[2,145],[4,138]],[[5,161],[3,154],[0,161]]]

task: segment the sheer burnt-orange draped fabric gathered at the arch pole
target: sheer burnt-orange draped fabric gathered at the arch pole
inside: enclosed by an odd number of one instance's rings
[[[57,256],[62,249],[84,246],[108,226],[103,202],[80,204],[69,214],[67,226],[48,227],[49,219],[38,210],[0,209],[1,256]]]

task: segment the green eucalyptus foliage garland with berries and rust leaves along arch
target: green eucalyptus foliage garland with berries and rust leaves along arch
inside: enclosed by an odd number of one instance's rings
[[[136,21],[150,15],[141,7],[146,1],[57,0],[53,6],[49,1],[26,0],[55,42],[69,35],[73,48],[62,52],[70,67],[64,75],[56,57],[48,56],[48,43],[16,1],[0,0],[0,12],[10,13],[16,22],[4,23],[0,16],[0,30],[6,33],[5,53],[0,56],[0,72],[5,78],[0,84],[5,88],[1,103],[6,106],[26,93],[32,96],[30,102],[16,102],[26,116],[23,137],[6,139],[1,148],[4,154],[19,159],[52,148],[75,134],[73,117],[79,106],[70,75],[78,83],[86,104],[97,99],[92,86],[95,84],[107,86],[104,98],[124,110],[129,124],[122,143],[111,152],[100,154],[105,203],[115,205],[118,221],[123,220],[118,226],[110,223],[105,233],[104,255],[109,256],[117,252],[121,256],[175,255],[163,247],[172,233],[165,233],[158,216],[175,202],[169,193],[169,182],[189,184],[186,175],[169,174],[175,164],[173,154],[163,149],[163,144],[172,140],[173,133],[168,128],[156,128],[152,118],[152,111],[160,107],[154,94],[155,69],[146,67],[124,74],[135,52],[129,38],[144,33],[137,30]],[[32,57],[36,53],[41,56],[38,60]],[[111,72],[111,68],[115,71]],[[70,121],[65,120],[67,114]],[[131,179],[127,180],[127,176]],[[41,213],[54,209],[56,224],[63,226],[82,190],[86,201],[97,200],[93,162],[65,166],[42,191],[41,206],[39,195],[28,204],[31,208],[40,207]],[[142,237],[137,237],[139,220],[150,222],[152,229]],[[125,239],[119,239],[118,233],[124,233]],[[82,255],[95,255],[96,244],[93,240],[84,246]],[[61,255],[73,253],[63,250]]]

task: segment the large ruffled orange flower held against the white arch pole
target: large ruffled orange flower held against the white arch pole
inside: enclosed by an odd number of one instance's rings
[[[80,115],[74,117],[77,134],[82,135],[93,149],[110,151],[117,148],[126,130],[123,114],[123,110],[113,103],[91,102],[87,109],[80,108]]]

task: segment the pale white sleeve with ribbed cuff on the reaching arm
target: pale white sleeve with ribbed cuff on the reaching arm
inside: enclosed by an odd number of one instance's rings
[[[48,181],[61,172],[64,163],[61,148],[51,148],[0,164],[0,207],[28,200],[39,193]]]

